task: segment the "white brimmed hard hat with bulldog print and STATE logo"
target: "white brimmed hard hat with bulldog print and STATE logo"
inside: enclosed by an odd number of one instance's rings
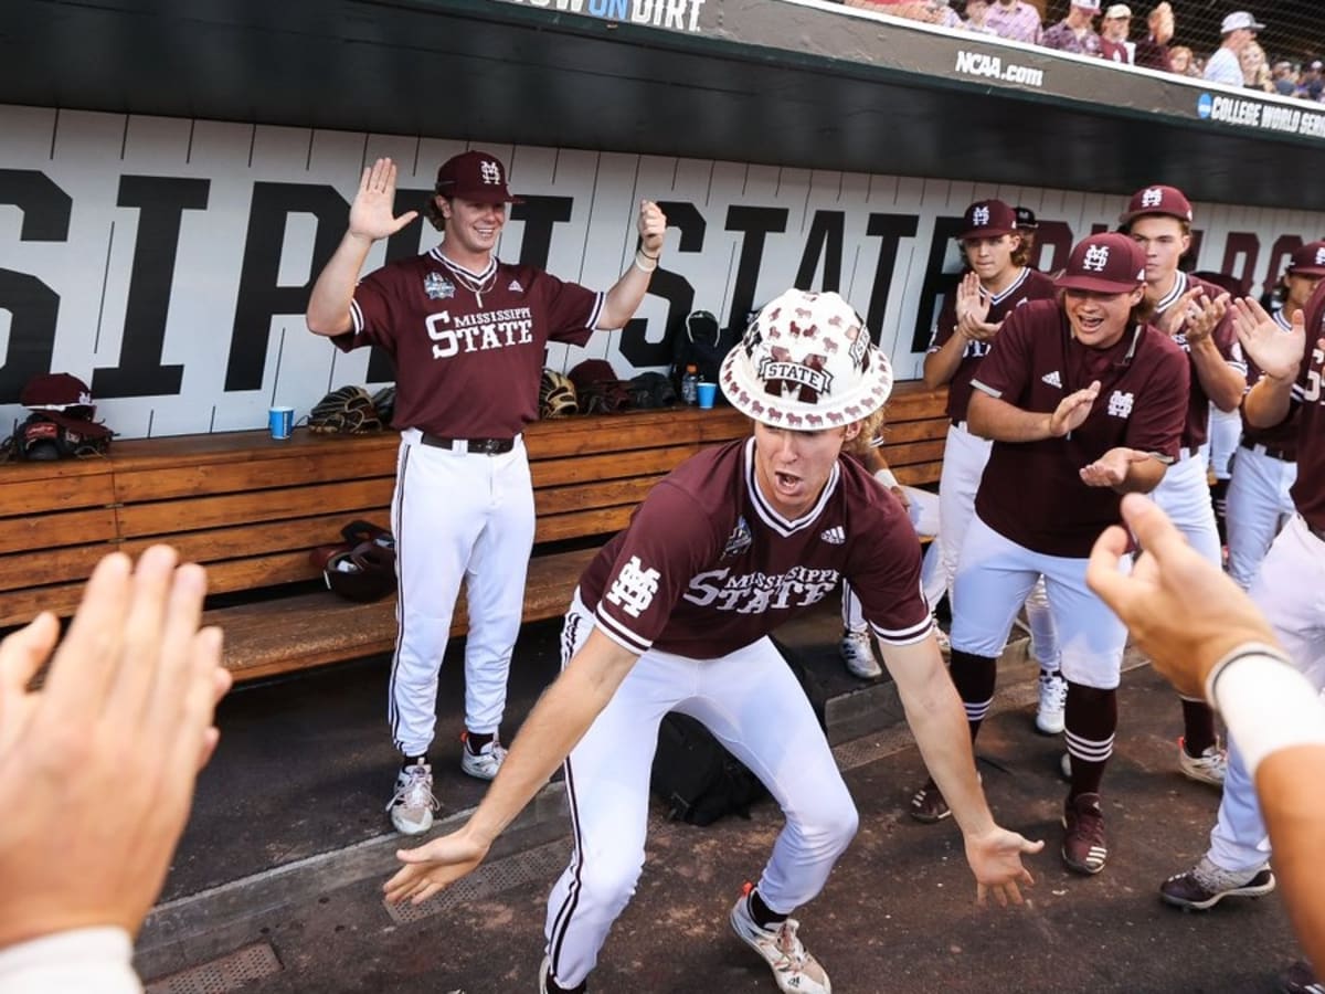
[[[845,425],[877,411],[892,391],[888,358],[836,293],[787,290],[727,353],[719,374],[731,406],[786,428]]]

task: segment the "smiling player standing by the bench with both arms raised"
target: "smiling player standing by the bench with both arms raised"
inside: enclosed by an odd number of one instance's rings
[[[443,241],[364,277],[372,243],[409,224],[394,216],[396,166],[363,171],[350,228],[318,277],[307,325],[341,349],[376,345],[396,362],[392,424],[400,429],[391,527],[396,538],[400,634],[388,717],[403,757],[388,811],[398,831],[432,827],[428,749],[437,724],[437,673],[461,579],[469,606],[465,733],[460,769],[492,779],[506,676],[519,630],[534,541],[534,497],[523,427],[538,416],[549,341],[583,345],[594,329],[621,327],[639,307],[662,250],[666,219],[641,201],[640,248],[604,293],[538,269],[498,262],[506,223],[506,170],[468,151],[443,163],[428,220]]]

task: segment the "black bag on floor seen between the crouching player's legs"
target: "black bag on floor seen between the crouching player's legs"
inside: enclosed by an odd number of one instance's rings
[[[795,649],[774,641],[824,728],[825,697]],[[668,808],[668,818],[690,824],[712,824],[723,815],[750,816],[750,806],[768,789],[758,777],[689,714],[668,712],[659,726],[649,786]]]

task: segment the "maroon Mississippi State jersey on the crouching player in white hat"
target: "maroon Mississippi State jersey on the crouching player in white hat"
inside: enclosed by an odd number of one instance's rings
[[[815,505],[790,521],[759,493],[754,439],[677,467],[580,578],[599,628],[631,652],[716,659],[851,582],[878,637],[924,639],[929,604],[906,510],[839,459]]]

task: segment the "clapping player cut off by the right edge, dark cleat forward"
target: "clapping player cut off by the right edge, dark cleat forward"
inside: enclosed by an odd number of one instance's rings
[[[1317,286],[1305,313],[1297,311],[1284,331],[1255,301],[1232,305],[1236,334],[1261,376],[1247,394],[1247,423],[1281,424],[1297,410],[1296,513],[1275,539],[1251,598],[1264,612],[1295,667],[1309,681],[1308,693],[1325,689],[1325,288]],[[1239,459],[1242,456],[1239,455]],[[1236,476],[1236,473],[1235,473]],[[1259,693],[1257,681],[1244,683]],[[1296,716],[1285,716],[1291,722]],[[1231,741],[1228,775],[1210,848],[1195,867],[1166,880],[1161,896],[1185,909],[1204,911],[1224,897],[1259,896],[1275,889],[1269,844],[1252,771],[1273,729]]]

